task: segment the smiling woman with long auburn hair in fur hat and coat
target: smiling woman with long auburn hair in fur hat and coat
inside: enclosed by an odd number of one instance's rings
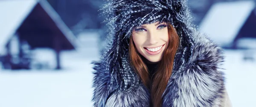
[[[108,45],[94,61],[95,107],[230,107],[222,50],[195,30],[186,0],[108,0]]]

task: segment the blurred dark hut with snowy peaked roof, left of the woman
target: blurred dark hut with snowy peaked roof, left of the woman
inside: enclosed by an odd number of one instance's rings
[[[15,7],[15,8],[13,8]],[[60,69],[61,50],[75,49],[76,37],[47,1],[0,1],[0,52],[4,69],[31,69],[32,50],[55,51],[56,69]],[[7,11],[5,11],[7,10]]]

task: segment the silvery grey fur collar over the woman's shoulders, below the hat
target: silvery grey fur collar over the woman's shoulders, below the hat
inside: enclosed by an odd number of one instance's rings
[[[131,69],[128,58],[111,63],[112,69],[106,69],[109,65],[104,59],[93,62],[94,106],[149,107],[150,93]],[[222,61],[221,48],[195,34],[194,47],[179,49],[175,56],[172,76],[163,93],[163,107],[220,107],[224,76],[218,66]]]

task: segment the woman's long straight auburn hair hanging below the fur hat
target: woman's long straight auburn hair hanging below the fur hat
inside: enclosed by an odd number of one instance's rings
[[[135,44],[130,36],[129,57],[131,66],[142,80],[143,84],[151,90],[151,101],[154,107],[162,106],[162,95],[166,89],[169,78],[172,75],[175,54],[179,47],[179,36],[174,27],[168,24],[169,44],[166,47],[163,58],[160,60],[157,71],[154,73],[153,80],[150,80],[148,68],[137,52]],[[152,81],[152,85],[151,85]]]

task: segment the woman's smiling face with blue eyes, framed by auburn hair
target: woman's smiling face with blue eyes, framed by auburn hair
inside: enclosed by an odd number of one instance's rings
[[[150,62],[158,62],[169,43],[166,23],[155,22],[136,27],[132,38],[137,51]]]

